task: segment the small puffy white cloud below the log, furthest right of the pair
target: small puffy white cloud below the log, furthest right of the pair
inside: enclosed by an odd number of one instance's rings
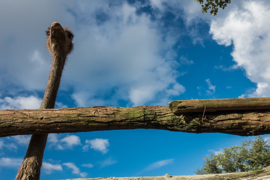
[[[92,148],[94,150],[101,151],[102,153],[107,153],[107,151],[108,151],[108,148],[107,148],[109,146],[108,139],[102,139],[102,138],[95,138],[95,139],[91,139],[91,140],[86,139],[85,143],[91,144],[90,148]],[[87,144],[83,146],[83,151],[88,150]]]

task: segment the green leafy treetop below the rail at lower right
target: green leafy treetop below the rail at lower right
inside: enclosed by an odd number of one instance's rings
[[[245,140],[240,146],[222,148],[203,159],[204,165],[196,169],[196,174],[259,170],[270,165],[270,144],[258,135],[254,140]]]

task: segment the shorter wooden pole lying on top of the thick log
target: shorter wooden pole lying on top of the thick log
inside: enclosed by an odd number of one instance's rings
[[[169,107],[174,113],[270,109],[270,97],[174,100]]]

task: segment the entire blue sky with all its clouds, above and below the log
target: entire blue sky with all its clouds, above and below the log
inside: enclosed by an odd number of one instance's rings
[[[233,0],[211,16],[193,0],[0,1],[0,109],[39,108],[51,63],[44,31],[53,21],[75,34],[55,108],[268,97],[269,7]],[[1,179],[15,177],[29,138],[0,138]],[[253,138],[155,129],[49,134],[40,179],[192,175],[210,152]]]

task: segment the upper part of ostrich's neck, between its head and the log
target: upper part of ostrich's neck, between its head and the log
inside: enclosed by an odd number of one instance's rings
[[[40,108],[54,108],[66,55],[52,54],[52,65]]]

